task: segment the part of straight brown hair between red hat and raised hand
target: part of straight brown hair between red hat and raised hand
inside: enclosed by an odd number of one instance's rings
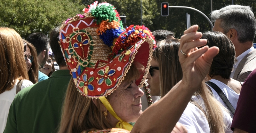
[[[164,97],[183,76],[178,57],[180,39],[164,39],[156,45],[153,59],[159,64],[160,96]],[[164,89],[164,87],[170,87],[170,89]]]

